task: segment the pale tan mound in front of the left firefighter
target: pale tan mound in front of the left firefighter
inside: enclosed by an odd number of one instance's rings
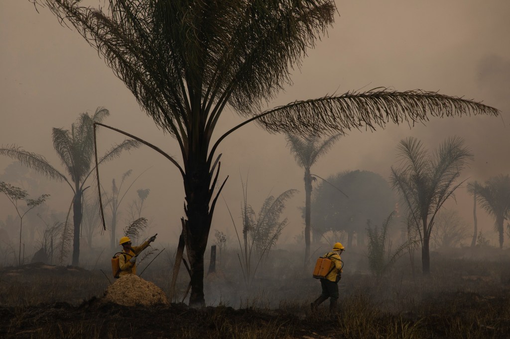
[[[135,274],[119,277],[108,287],[104,299],[124,306],[168,304],[163,290]]]

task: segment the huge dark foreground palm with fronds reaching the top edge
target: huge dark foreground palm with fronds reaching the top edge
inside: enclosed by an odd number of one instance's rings
[[[292,68],[333,24],[334,0],[109,0],[97,8],[77,0],[32,1],[77,29],[179,145],[182,165],[137,138],[163,154],[183,178],[191,305],[205,304],[203,253],[224,184],[215,189],[220,170],[216,151],[241,126],[257,121],[269,131],[313,135],[373,130],[388,122],[413,125],[431,116],[498,114],[436,92],[380,89],[261,111],[290,83]],[[225,106],[246,120],[213,139]]]

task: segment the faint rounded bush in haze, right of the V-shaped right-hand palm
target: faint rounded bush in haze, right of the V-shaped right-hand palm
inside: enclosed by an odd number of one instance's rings
[[[430,239],[437,248],[460,246],[466,239],[466,223],[456,210],[442,209],[436,215]]]

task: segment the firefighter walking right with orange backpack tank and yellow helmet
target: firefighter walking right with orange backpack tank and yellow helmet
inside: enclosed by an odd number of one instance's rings
[[[344,266],[340,255],[345,250],[345,247],[337,242],[333,245],[333,250],[327,252],[324,258],[331,260],[330,271],[325,279],[320,279],[322,293],[314,302],[310,304],[312,311],[317,309],[323,301],[329,298],[329,313],[335,314],[338,308],[338,281],[342,278],[342,267]]]

